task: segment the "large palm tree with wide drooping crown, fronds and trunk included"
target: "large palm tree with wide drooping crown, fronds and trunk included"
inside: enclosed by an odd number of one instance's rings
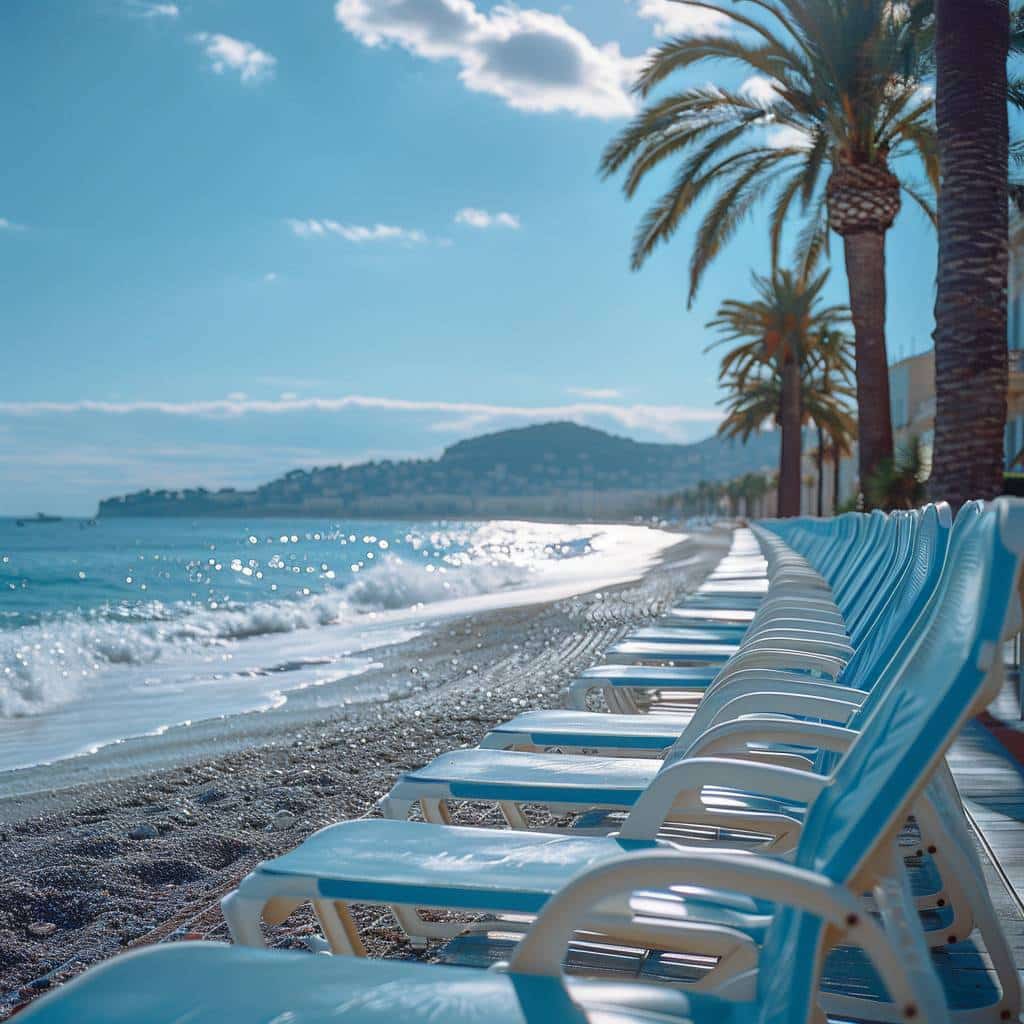
[[[932,186],[938,161],[932,99],[906,54],[916,20],[900,0],[677,0],[728,18],[736,36],[703,34],[659,47],[636,83],[649,97],[673,73],[708,59],[738,63],[755,76],[746,88],[691,86],[649,102],[606,148],[602,171],[629,165],[627,196],[654,168],[681,159],[669,190],[642,219],[633,266],[667,242],[698,200],[710,199],[693,245],[689,298],[709,264],[751,209],[774,195],[773,263],[783,226],[797,207],[804,272],[827,247],[828,227],[842,236],[856,335],[860,475],[893,451],[886,357],[885,240],[900,209],[900,190],[930,217],[913,182],[891,161],[921,158]],[[752,16],[738,10],[753,8]],[[756,85],[756,87],[755,87]]]

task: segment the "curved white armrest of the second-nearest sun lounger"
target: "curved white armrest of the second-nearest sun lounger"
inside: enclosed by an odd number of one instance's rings
[[[827,784],[825,776],[799,768],[739,758],[684,758],[667,764],[654,776],[633,805],[618,835],[622,839],[652,839],[677,803],[699,808],[700,791],[708,785],[809,804]],[[716,813],[727,817],[727,812]],[[778,815],[768,817],[778,820]]]

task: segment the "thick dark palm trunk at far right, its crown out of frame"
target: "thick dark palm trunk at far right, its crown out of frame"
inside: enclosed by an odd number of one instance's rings
[[[937,0],[939,272],[931,492],[1002,492],[1007,418],[1008,0]]]

